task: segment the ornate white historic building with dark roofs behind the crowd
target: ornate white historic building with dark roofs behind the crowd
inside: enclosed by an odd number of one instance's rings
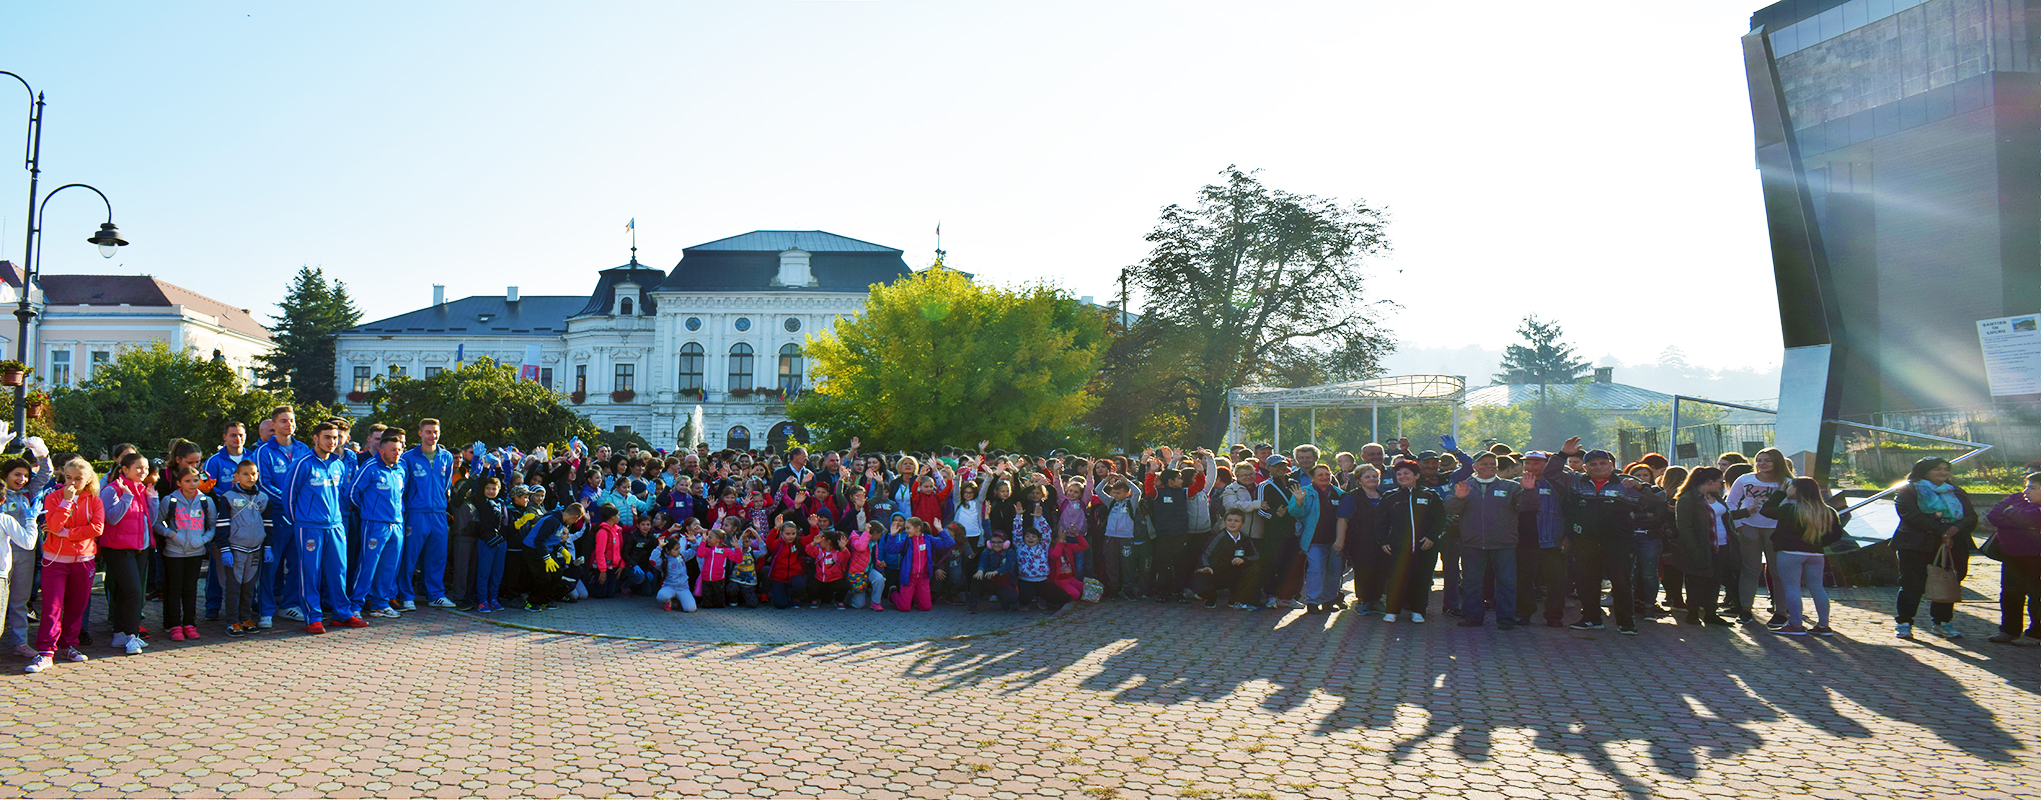
[[[431,376],[455,357],[527,365],[608,431],[674,447],[702,408],[712,447],[771,447],[806,433],[786,394],[806,384],[810,333],[910,273],[898,249],[825,231],[753,231],[682,251],[671,273],[602,269],[588,296],[445,300],[339,337],[339,392],[357,412],[376,376]]]

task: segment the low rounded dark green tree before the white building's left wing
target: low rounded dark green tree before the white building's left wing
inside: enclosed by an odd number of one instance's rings
[[[561,404],[539,382],[518,380],[516,365],[482,357],[433,378],[386,376],[369,392],[369,420],[416,431],[437,418],[447,447],[482,441],[488,447],[533,449],[582,437],[594,447],[602,433],[588,416]]]

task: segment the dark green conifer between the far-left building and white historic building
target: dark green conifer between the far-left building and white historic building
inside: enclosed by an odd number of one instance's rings
[[[267,390],[290,390],[298,398],[331,404],[339,398],[335,376],[335,341],[341,331],[361,322],[361,310],[347,296],[347,284],[318,267],[298,267],[284,302],[278,304],[269,337],[276,351],[255,367]]]

